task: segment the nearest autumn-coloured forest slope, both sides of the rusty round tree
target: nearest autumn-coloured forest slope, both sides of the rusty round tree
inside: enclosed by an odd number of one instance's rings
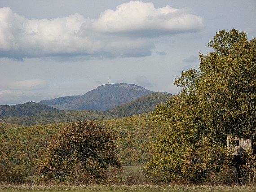
[[[161,128],[150,121],[150,113],[104,120],[102,123],[118,133],[119,158],[123,164],[137,165],[152,158],[151,144]],[[27,175],[33,175],[51,136],[65,125],[19,126],[0,122],[0,164],[18,165],[26,170]]]

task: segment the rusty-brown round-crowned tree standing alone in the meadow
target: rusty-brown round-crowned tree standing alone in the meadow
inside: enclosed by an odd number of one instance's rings
[[[45,148],[37,180],[100,179],[108,166],[120,166],[115,156],[116,139],[112,129],[95,121],[68,124]]]

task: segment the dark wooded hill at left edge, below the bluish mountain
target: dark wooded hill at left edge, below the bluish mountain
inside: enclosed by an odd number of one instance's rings
[[[60,110],[35,102],[27,102],[18,105],[0,105],[0,118],[24,117],[56,111]]]

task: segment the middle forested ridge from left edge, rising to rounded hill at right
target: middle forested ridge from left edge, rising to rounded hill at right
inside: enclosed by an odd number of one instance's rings
[[[63,110],[50,113],[40,113],[34,116],[2,118],[0,119],[0,122],[29,126],[54,124],[60,122],[74,122],[79,120],[86,121],[115,119],[134,114],[153,112],[157,104],[165,103],[170,97],[172,97],[172,94],[154,92],[108,111]]]

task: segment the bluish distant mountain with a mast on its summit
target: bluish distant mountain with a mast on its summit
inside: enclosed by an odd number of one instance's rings
[[[134,84],[116,83],[99,86],[82,96],[66,96],[39,103],[61,110],[108,110],[150,93],[152,91]]]

